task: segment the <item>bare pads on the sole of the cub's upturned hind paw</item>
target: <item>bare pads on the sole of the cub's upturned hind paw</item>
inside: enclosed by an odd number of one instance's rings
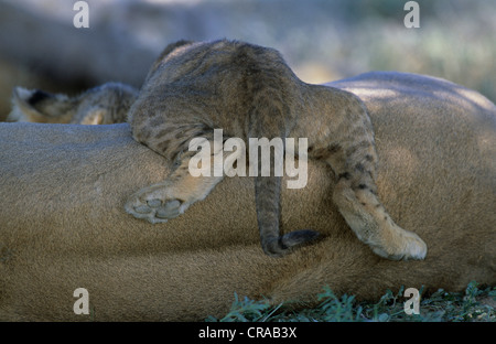
[[[126,212],[136,218],[145,219],[151,224],[163,224],[168,219],[177,217],[184,209],[179,200],[159,198],[141,201],[139,197],[131,197],[125,205]]]

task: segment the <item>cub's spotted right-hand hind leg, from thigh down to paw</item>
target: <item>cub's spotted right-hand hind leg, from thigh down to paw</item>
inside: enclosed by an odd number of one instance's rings
[[[352,101],[343,111],[346,115],[334,117],[332,133],[315,142],[309,155],[323,159],[334,170],[337,184],[333,201],[363,243],[388,259],[423,259],[427,246],[422,239],[399,227],[378,200],[375,183],[378,158],[371,122],[359,100],[353,97],[348,100]]]

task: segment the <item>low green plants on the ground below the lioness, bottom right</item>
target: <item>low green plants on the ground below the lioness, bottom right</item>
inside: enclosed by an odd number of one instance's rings
[[[496,322],[496,288],[479,289],[475,281],[467,284],[464,292],[446,292],[442,289],[430,295],[423,295],[420,314],[408,315],[405,312],[405,287],[397,293],[386,290],[377,302],[357,302],[354,295],[337,297],[328,286],[316,295],[320,302],[315,308],[293,310],[290,304],[271,305],[267,299],[235,300],[229,312],[217,319],[208,316],[206,321],[220,322]]]

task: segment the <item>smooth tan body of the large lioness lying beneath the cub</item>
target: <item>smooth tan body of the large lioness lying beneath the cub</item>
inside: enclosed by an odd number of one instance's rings
[[[366,104],[376,131],[378,193],[399,225],[429,245],[422,261],[390,261],[356,239],[331,200],[330,169],[283,190],[285,230],[324,236],[281,259],[259,248],[254,184],[226,178],[173,222],[126,216],[129,190],[163,180],[164,159],[128,125],[0,125],[0,320],[203,320],[234,292],[317,303],[377,299],[400,286],[460,291],[496,284],[496,107],[425,76],[370,73],[331,84]],[[75,315],[76,288],[90,315]]]

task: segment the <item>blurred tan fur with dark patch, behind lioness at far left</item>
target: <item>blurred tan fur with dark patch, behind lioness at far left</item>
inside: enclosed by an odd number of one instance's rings
[[[138,90],[107,83],[79,96],[53,95],[39,89],[15,87],[8,121],[42,123],[110,125],[125,122]]]

